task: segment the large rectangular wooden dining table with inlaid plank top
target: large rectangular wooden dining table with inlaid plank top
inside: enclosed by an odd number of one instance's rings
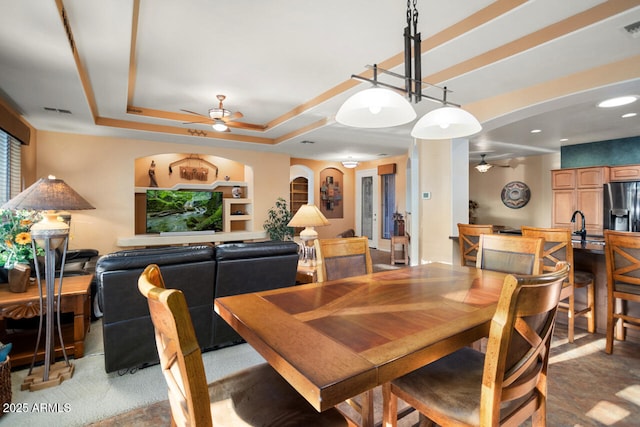
[[[217,298],[215,310],[323,411],[488,336],[505,276],[431,263]]]

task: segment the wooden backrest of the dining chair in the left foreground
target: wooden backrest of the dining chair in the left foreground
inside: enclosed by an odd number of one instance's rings
[[[174,424],[211,426],[204,363],[184,294],[166,289],[154,264],[143,271],[138,289],[149,304]]]

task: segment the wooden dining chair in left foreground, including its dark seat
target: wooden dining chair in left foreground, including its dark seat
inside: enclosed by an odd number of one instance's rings
[[[155,264],[142,272],[138,289],[149,304],[172,425],[348,425],[334,408],[317,412],[266,363],[207,385],[184,294],[165,288]]]

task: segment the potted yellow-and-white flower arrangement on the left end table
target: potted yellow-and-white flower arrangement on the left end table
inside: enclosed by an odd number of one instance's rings
[[[8,270],[9,290],[24,292],[31,275],[31,225],[40,219],[33,211],[0,209],[0,266]],[[37,255],[44,250],[36,248]]]

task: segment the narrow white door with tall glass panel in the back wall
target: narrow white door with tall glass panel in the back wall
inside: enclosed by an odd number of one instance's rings
[[[367,236],[369,247],[378,247],[378,171],[356,171],[356,234]]]

